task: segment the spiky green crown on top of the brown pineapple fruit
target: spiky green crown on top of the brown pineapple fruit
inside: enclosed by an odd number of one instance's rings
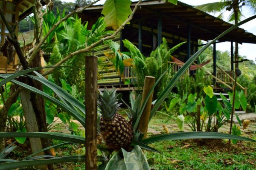
[[[98,107],[104,119],[113,119],[117,110],[120,108],[121,103],[118,103],[118,96],[119,94],[116,94],[116,90],[114,89],[108,90],[106,88],[104,92],[99,91]]]

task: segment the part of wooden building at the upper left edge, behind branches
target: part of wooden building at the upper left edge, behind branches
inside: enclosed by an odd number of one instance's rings
[[[33,0],[0,0],[0,8],[3,10],[6,19],[13,25],[16,21],[22,20],[32,11]],[[2,18],[0,18],[0,43],[3,45],[6,35],[9,34]],[[17,55],[13,61],[7,63],[7,58],[0,53],[0,73],[14,72],[18,64]]]

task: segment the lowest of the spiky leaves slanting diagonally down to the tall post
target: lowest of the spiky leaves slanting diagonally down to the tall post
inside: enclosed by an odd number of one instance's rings
[[[5,78],[6,76],[4,75],[0,75],[0,77]],[[19,85],[25,89],[27,89],[28,91],[31,91],[32,93],[35,93],[39,96],[42,96],[43,98],[49,100],[50,102],[54,103],[55,105],[58,105],[59,108],[61,108],[63,111],[69,113],[71,116],[73,116],[77,121],[79,121],[81,123],[81,125],[83,125],[83,127],[85,127],[85,118],[78,113],[76,110],[68,107],[67,105],[65,105],[64,103],[60,102],[59,100],[55,99],[52,96],[49,96],[48,94],[44,93],[43,91],[38,90],[37,88],[34,88],[32,86],[26,85],[23,82],[19,82],[17,80],[12,80],[12,83]]]

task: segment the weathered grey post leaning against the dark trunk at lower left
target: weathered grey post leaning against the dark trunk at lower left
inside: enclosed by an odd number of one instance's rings
[[[26,122],[26,129],[28,132],[38,132],[38,124],[35,117],[35,112],[33,109],[32,102],[30,101],[30,92],[23,90],[20,92],[20,99],[23,108],[23,113]],[[42,150],[42,144],[40,138],[29,138],[30,147],[32,153]],[[38,153],[37,156],[44,155],[43,152]],[[47,170],[47,165],[38,165],[36,166],[40,170]]]

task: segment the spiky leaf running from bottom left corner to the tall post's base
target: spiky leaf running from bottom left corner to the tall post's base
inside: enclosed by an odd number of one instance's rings
[[[43,165],[43,164],[77,162],[77,161],[85,161],[85,156],[63,156],[63,157],[43,159],[43,160],[26,160],[26,161],[8,162],[8,163],[0,164],[0,170],[12,170],[16,168],[32,167],[32,166]]]

